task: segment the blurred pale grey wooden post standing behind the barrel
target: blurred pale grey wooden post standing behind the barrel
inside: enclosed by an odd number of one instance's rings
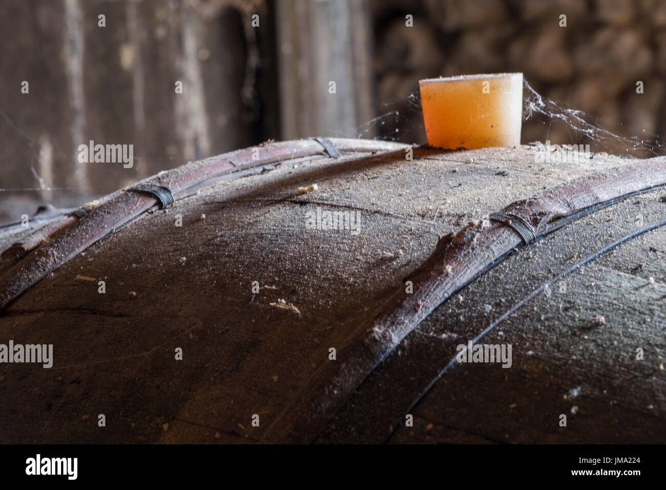
[[[372,117],[370,29],[366,0],[278,0],[282,139],[357,136]]]

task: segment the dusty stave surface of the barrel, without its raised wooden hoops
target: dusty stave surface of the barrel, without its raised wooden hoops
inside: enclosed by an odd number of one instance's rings
[[[412,159],[406,159],[408,151]],[[643,171],[638,161],[611,155],[538,163],[539,151],[398,147],[348,151],[342,159],[298,157],[218,181],[143,215],[64,263],[0,316],[5,339],[53,344],[55,357],[51,369],[8,365],[3,410],[21,415],[0,417],[2,441],[259,441],[318,367],[330,362],[330,348],[387,307],[387,298],[405,287],[404,278],[428,259],[442,235],[575,179],[626,165]],[[525,441],[515,424],[505,433],[490,425],[482,424],[480,433],[465,427],[461,413],[474,403],[456,393],[476,389],[474,400],[507,420],[521,410],[521,420],[529,418],[535,408],[529,403],[537,402],[528,403],[525,393],[539,386],[541,403],[557,399],[562,409],[579,405],[585,411],[582,402],[563,395],[584,384],[586,370],[593,375],[581,397],[599,395],[607,384],[607,393],[590,401],[591,413],[617,402],[632,376],[652,376],[649,393],[634,393],[645,405],[641,427],[655,425],[655,412],[663,422],[663,359],[653,357],[636,374],[621,350],[643,342],[646,351],[662,355],[666,347],[666,290],[661,284],[639,289],[647,275],[663,282],[666,235],[657,230],[570,277],[575,294],[540,295],[490,333],[492,343],[501,335],[513,343],[517,369],[456,367],[460,372],[443,377],[418,405],[423,423],[417,429],[388,432],[418,395],[419,383],[452,357],[454,344],[485,328],[503,302],[519,301],[553,271],[621,236],[637,216],[646,223],[663,216],[663,195],[653,191],[586,217],[475,279],[459,292],[462,300],[454,295],[406,337],[355,392],[356,409],[352,403],[340,409],[317,441]],[[322,229],[327,219],[348,229]],[[28,231],[2,231],[0,245],[4,249]],[[593,325],[595,317],[605,323]],[[174,361],[176,348],[182,361]],[[608,359],[624,360],[616,366]],[[479,373],[487,384],[479,385]],[[405,383],[410,376],[418,382]],[[615,384],[607,379],[613,376]],[[513,388],[502,384],[506,379]],[[395,393],[377,402],[390,383]],[[460,411],[444,411],[454,399]],[[377,412],[366,429],[359,425],[361,407],[366,417]],[[611,413],[617,418],[629,410],[636,407]],[[445,412],[456,422],[437,415]],[[103,436],[91,429],[97,413],[115,419]],[[260,427],[251,425],[254,414]],[[534,423],[541,439],[531,442],[587,441],[583,429],[563,435],[556,424],[549,432],[545,421]],[[373,424],[384,428],[368,428]],[[435,433],[424,429],[428,424]],[[642,439],[630,435],[632,441],[666,441],[663,429]]]

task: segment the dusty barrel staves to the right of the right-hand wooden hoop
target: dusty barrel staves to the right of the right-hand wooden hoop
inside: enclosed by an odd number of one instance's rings
[[[458,291],[364,381],[318,441],[664,441],[665,379],[659,366],[666,327],[665,229],[621,245],[500,323],[479,343],[511,344],[511,368],[455,365],[412,410],[414,427],[404,424],[406,409],[455,357],[458,345],[533,289],[637,229],[637,215],[645,225],[663,220],[664,194],[649,193],[589,215],[519,249]],[[648,285],[648,277],[655,283]],[[635,359],[639,346],[645,361]],[[577,387],[580,394],[569,395]],[[558,425],[562,413],[569,417],[567,427]]]

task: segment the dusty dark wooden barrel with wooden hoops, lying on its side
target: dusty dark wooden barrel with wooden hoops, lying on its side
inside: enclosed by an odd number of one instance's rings
[[[541,151],[268,143],[3,228],[0,344],[53,350],[0,442],[666,442],[666,160]]]

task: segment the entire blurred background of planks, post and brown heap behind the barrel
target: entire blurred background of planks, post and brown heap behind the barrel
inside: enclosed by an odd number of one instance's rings
[[[418,80],[440,75],[521,71],[613,133],[666,135],[666,0],[0,5],[0,222],[267,139],[424,143]],[[585,142],[547,119],[523,143]],[[89,140],[133,144],[133,168],[79,163]]]

